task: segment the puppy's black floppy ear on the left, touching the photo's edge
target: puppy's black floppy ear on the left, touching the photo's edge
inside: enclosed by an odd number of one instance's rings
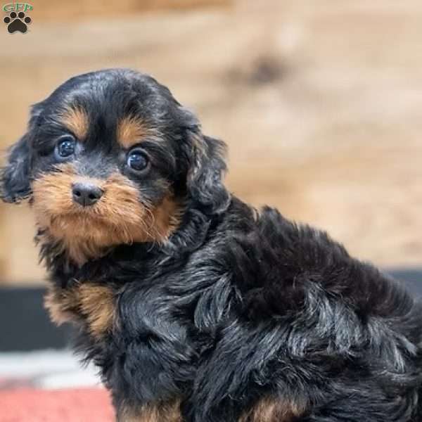
[[[16,203],[30,195],[30,148],[25,134],[9,149],[6,166],[0,173],[0,198]]]

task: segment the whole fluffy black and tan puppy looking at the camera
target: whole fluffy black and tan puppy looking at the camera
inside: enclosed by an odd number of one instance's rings
[[[422,420],[422,307],[321,231],[222,182],[224,143],[153,78],[103,70],[32,108],[2,174],[46,306],[122,422]]]

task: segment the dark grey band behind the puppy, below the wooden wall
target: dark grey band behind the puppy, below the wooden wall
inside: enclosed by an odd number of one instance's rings
[[[422,296],[422,269],[385,271]],[[70,326],[51,324],[43,306],[45,288],[0,288],[0,352],[63,348]]]

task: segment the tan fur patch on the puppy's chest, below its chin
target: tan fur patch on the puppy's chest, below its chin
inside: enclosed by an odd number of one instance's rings
[[[44,305],[54,323],[84,321],[98,340],[113,329],[115,294],[106,286],[83,283],[70,289],[51,287]]]

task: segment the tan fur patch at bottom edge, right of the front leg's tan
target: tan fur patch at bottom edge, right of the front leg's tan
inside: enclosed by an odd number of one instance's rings
[[[238,422],[290,422],[304,413],[301,404],[277,399],[262,399]]]

